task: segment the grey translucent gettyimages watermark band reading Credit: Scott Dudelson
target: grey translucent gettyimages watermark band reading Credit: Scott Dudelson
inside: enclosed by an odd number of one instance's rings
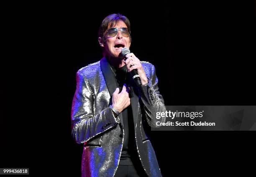
[[[256,106],[165,106],[155,113],[153,131],[256,130]]]

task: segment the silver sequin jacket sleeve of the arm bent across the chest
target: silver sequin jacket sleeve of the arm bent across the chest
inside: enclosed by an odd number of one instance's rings
[[[100,114],[93,113],[93,92],[87,79],[79,71],[76,75],[77,88],[71,111],[72,136],[77,143],[84,143],[116,124],[120,123],[110,107]]]

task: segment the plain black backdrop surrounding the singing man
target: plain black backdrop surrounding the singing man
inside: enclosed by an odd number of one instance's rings
[[[254,1],[2,7],[0,167],[80,175],[82,145],[70,124],[75,73],[102,57],[97,31],[111,13],[129,18],[130,49],[156,67],[165,105],[255,105]],[[151,134],[163,176],[249,172],[254,141],[247,131]]]

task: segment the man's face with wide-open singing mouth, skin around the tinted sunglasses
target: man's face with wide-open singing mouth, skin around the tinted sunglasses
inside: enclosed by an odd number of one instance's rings
[[[110,26],[108,26],[108,28],[110,28]],[[118,23],[116,23],[115,26],[111,28],[127,28],[127,26],[122,20],[119,20]],[[130,45],[131,41],[129,36],[124,37],[120,30],[118,30],[117,35],[114,37],[109,37],[106,35],[106,42],[101,46],[105,48],[106,55],[111,57],[118,57],[122,48],[130,48]]]

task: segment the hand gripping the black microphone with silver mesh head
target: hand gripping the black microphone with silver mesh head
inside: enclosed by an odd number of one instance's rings
[[[146,77],[146,73],[141,65],[140,60],[133,54],[130,53],[128,48],[123,48],[121,53],[121,57],[125,57],[124,62],[128,68],[128,72],[131,73],[133,80],[135,81],[137,86],[144,85],[148,82]]]

